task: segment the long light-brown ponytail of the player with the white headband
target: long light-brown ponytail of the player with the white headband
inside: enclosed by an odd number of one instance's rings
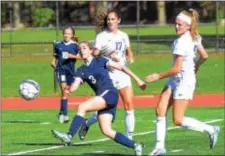
[[[193,41],[196,41],[198,39],[198,17],[199,14],[196,10],[194,9],[189,9],[188,11],[182,11],[181,13],[189,16],[191,18],[191,28],[190,28],[190,32],[191,32],[191,37]]]

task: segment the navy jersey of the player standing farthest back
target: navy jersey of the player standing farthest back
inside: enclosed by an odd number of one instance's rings
[[[63,70],[66,73],[75,75],[75,63],[76,59],[63,59],[62,53],[68,52],[76,55],[78,53],[78,44],[74,41],[70,42],[56,42],[54,49],[54,56],[58,59],[56,70]]]

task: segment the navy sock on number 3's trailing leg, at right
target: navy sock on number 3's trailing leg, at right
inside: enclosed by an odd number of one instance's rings
[[[130,140],[128,137],[126,137],[125,135],[123,135],[120,132],[116,132],[116,136],[115,136],[114,140],[117,143],[124,145],[126,147],[129,147],[129,148],[134,148],[134,145],[135,145],[134,141]]]

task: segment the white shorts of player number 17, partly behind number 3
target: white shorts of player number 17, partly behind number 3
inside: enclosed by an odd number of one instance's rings
[[[113,70],[112,72],[109,72],[109,76],[117,90],[132,86],[130,76],[122,71]]]

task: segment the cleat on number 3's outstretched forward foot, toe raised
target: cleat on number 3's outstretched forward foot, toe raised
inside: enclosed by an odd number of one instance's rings
[[[72,144],[72,136],[66,133],[58,132],[55,129],[52,130],[52,134],[56,138],[58,138],[65,146]]]

